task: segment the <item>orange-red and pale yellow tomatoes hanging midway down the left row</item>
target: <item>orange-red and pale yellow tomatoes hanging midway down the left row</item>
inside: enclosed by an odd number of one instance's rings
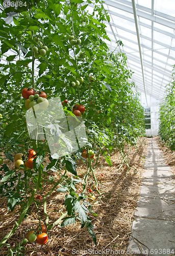
[[[30,150],[28,150],[28,160],[23,162],[23,154],[22,153],[17,153],[14,156],[14,161],[15,161],[15,167],[17,169],[20,168],[20,165],[23,165],[24,168],[26,169],[32,169],[33,168],[33,160],[36,157],[36,152],[31,148]]]

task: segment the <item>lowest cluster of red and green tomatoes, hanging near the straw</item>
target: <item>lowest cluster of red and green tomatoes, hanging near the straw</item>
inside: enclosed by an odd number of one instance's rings
[[[48,241],[46,226],[41,224],[41,227],[37,227],[36,230],[30,230],[27,234],[29,242],[37,242],[40,245],[45,244]]]

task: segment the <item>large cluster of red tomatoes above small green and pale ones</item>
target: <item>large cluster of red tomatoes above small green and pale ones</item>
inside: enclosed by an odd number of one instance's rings
[[[47,95],[42,91],[35,91],[33,88],[23,88],[22,97],[26,99],[25,106],[29,110],[35,106],[35,111],[45,110],[48,106]],[[42,104],[38,104],[42,103]]]

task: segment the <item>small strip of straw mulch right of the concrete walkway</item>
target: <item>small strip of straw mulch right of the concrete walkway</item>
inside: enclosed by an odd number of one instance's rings
[[[157,137],[157,143],[160,146],[160,150],[164,153],[164,159],[166,164],[171,167],[171,172],[175,176],[175,151],[171,151],[164,143]]]

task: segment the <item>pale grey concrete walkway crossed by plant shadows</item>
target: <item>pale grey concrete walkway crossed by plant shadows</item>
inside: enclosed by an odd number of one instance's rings
[[[175,179],[163,159],[156,139],[149,139],[128,246],[133,255],[175,255]]]

